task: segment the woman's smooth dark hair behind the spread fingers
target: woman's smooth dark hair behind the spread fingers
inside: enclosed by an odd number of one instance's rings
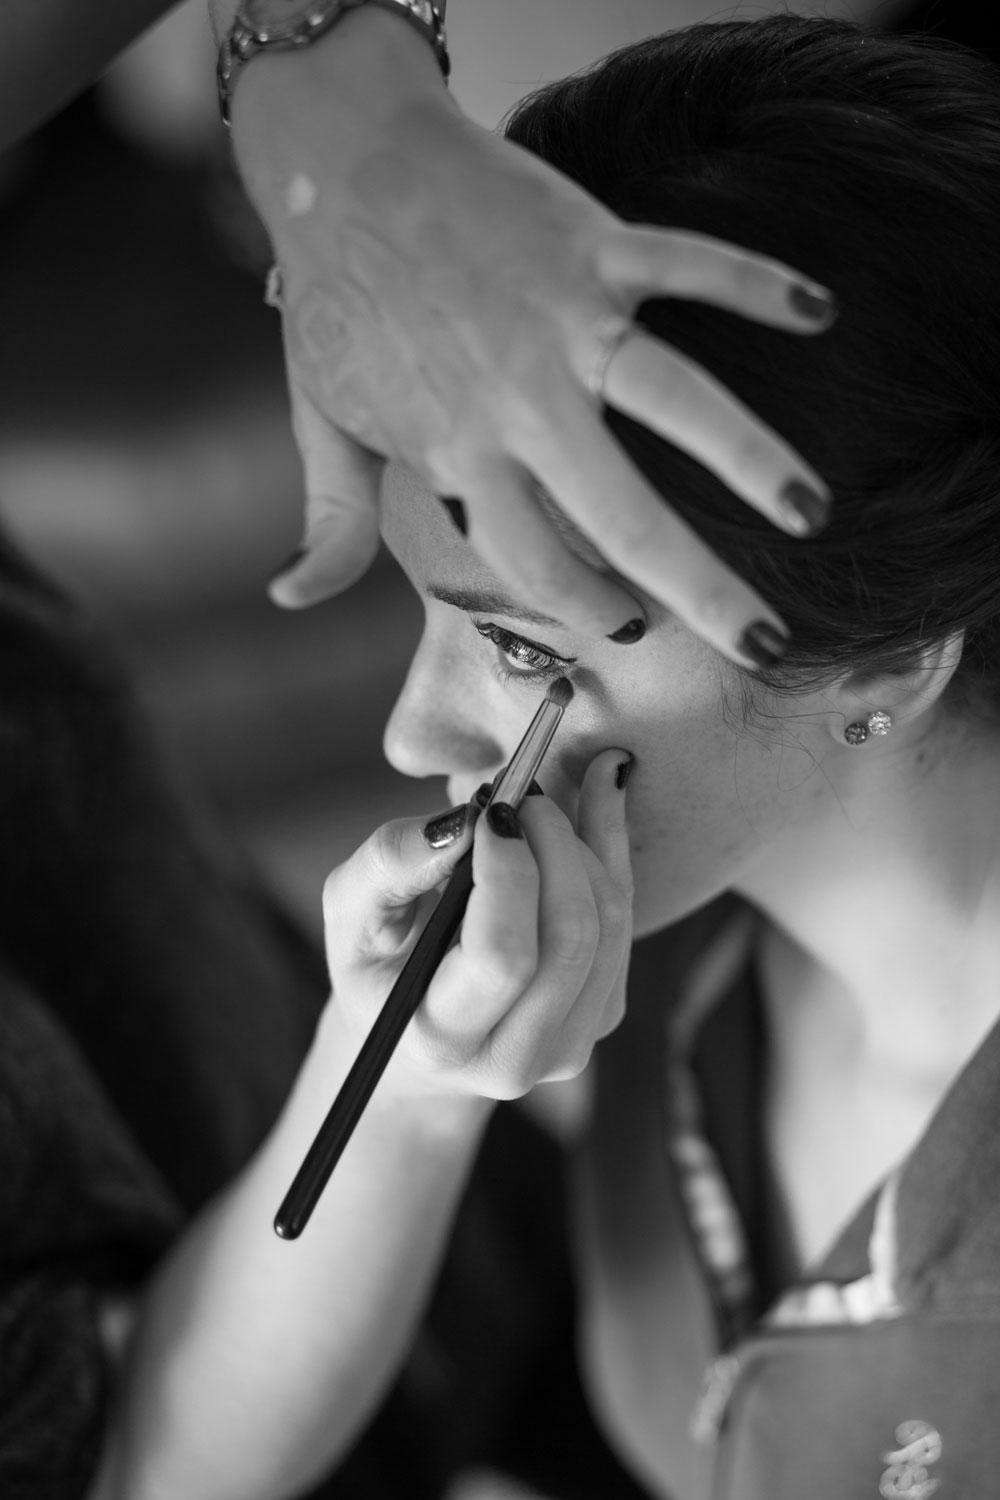
[[[901,669],[964,627],[949,700],[1000,714],[1000,74],[949,44],[777,15],[625,46],[531,94],[505,134],[624,219],[835,290],[817,338],[693,302],[639,310],[828,478],[814,542],[606,420],[789,622],[786,686]]]

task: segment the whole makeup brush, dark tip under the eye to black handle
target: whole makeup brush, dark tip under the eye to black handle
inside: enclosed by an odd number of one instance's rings
[[[573,682],[565,676],[558,678],[528,724],[525,738],[496,777],[487,807],[493,802],[520,807],[571,699]],[[319,1126],[316,1138],[285,1194],[285,1202],[274,1218],[274,1233],[282,1239],[298,1239],[309,1222],[312,1210],[319,1202],[319,1194],[330,1180],[330,1173],[361,1119],[364,1106],[372,1098],[375,1084],[385,1071],[414,1011],[427,993],[438,964],[462,926],[471,891],[472,850],[466,849],[451,872],[441,900],[430,914],[427,926],[417,939],[414,951],[378,1012],[372,1030],[364,1038],[361,1050],[330,1107],[330,1113]]]

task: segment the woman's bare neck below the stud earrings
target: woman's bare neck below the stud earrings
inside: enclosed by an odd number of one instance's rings
[[[942,722],[886,752],[825,765],[739,890],[772,924],[778,1023],[805,998],[855,1071],[936,1089],[1000,1016],[1000,735]]]

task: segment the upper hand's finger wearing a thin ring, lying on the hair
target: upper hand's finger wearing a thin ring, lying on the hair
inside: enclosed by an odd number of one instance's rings
[[[642,328],[615,350],[603,394],[786,531],[813,536],[826,522],[831,496],[816,470],[714,375]]]

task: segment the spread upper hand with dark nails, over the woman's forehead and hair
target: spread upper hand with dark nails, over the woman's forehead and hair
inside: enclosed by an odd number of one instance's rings
[[[615,634],[640,610],[567,548],[538,484],[720,651],[753,662],[753,622],[777,650],[774,610],[643,480],[597,392],[799,532],[796,484],[822,510],[817,476],[631,315],[649,297],[693,297],[816,333],[831,316],[822,288],[702,236],[624,224],[466,118],[426,42],[372,6],[304,52],[256,58],[232,118],[280,266],[306,470],[304,550],[273,580],[277,603],[313,603],[364,572],[388,458],[459,498],[490,568],[568,626]],[[768,630],[756,639],[766,651]]]

